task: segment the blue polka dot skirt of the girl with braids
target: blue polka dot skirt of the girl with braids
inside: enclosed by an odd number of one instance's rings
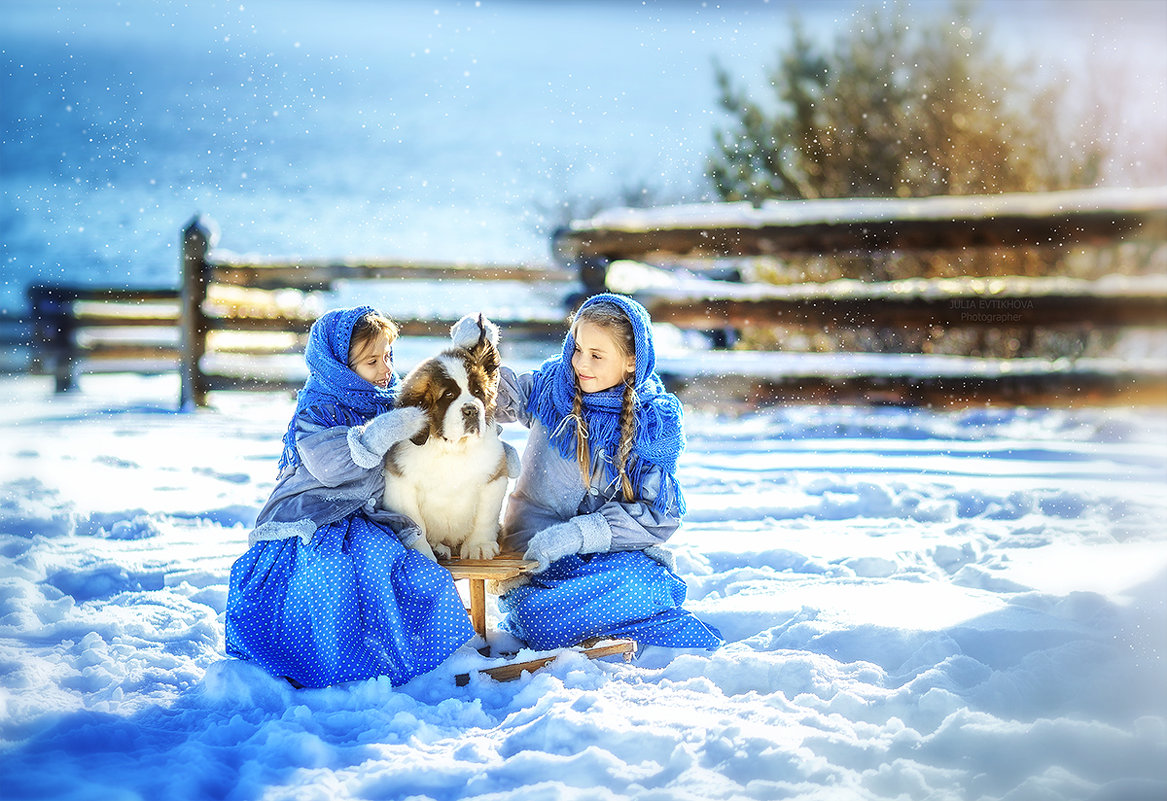
[[[718,648],[721,633],[682,608],[685,583],[641,551],[564,557],[498,599],[503,628],[536,650],[596,636]]]

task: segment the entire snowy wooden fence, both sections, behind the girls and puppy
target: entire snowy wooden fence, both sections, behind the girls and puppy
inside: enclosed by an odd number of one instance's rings
[[[506,340],[562,333],[565,299],[608,288],[634,294],[655,320],[682,329],[745,329],[798,322],[824,328],[1167,328],[1162,276],[1097,281],[998,277],[829,281],[795,286],[711,280],[719,259],[785,253],[1167,242],[1167,187],[929,198],[783,201],[615,209],[557,232],[562,266],[418,262],[263,262],[219,251],[195,218],[182,232],[177,290],[29,291],[36,372],[74,385],[79,369],[179,369],[180,404],[205,405],[225,389],[291,389],[303,377],[303,335],[321,293],[347,283],[392,287],[387,308],[411,336],[443,336],[464,311],[498,320]],[[656,271],[613,287],[622,259],[694,259],[700,278]],[[502,287],[491,293],[487,287]],[[421,293],[410,287],[427,285]],[[469,286],[457,301],[455,286]],[[582,285],[582,292],[580,287]],[[524,288],[538,287],[525,300]],[[505,356],[506,354],[504,354]],[[931,354],[761,354],[662,348],[658,369],[676,390],[748,403],[840,401],[1074,405],[1167,401],[1163,360],[983,360]],[[715,391],[714,391],[715,390]]]

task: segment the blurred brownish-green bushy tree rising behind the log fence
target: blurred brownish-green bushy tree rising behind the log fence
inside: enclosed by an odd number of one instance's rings
[[[1068,86],[1005,61],[967,2],[932,18],[876,7],[831,48],[797,20],[792,30],[766,74],[773,107],[717,69],[729,118],[710,159],[721,200],[995,194],[1099,179],[1104,142],[1065,135]]]

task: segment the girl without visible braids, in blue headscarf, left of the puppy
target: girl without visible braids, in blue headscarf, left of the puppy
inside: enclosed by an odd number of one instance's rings
[[[231,567],[228,653],[299,687],[403,684],[474,636],[420,530],[378,504],[385,452],[425,417],[393,409],[396,339],[370,306],[313,323],[275,488]]]

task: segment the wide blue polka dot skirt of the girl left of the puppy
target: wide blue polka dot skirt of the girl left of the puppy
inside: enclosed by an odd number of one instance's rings
[[[302,687],[404,684],[474,636],[449,572],[361,513],[231,566],[228,654]]]

